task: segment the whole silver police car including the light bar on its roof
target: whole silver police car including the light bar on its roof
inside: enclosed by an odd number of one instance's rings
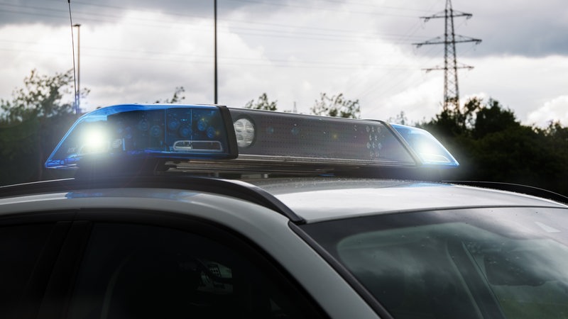
[[[74,179],[0,188],[0,317],[568,318],[567,198],[458,165],[383,121],[100,108],[45,163]]]

